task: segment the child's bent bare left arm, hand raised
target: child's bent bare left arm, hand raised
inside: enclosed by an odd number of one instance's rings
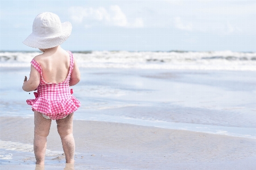
[[[35,69],[34,66],[31,65],[31,70],[30,70],[30,79],[26,79],[27,76],[25,76],[24,83],[22,86],[22,89],[24,91],[33,91],[36,88],[38,88],[40,84],[40,74],[39,72]]]

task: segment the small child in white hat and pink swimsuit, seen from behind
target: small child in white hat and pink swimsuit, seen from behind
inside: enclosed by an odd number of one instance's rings
[[[34,92],[36,98],[27,100],[27,104],[34,111],[34,152],[39,165],[44,165],[52,120],[57,123],[66,163],[74,163],[73,112],[81,104],[69,86],[80,81],[80,72],[72,53],[60,47],[71,31],[71,23],[61,23],[56,14],[44,12],[36,16],[31,35],[23,41],[43,52],[32,59],[30,78],[25,76],[22,87],[27,92],[38,90]]]

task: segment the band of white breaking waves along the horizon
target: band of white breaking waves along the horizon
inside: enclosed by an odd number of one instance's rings
[[[0,67],[29,67],[40,53],[1,52]],[[80,67],[256,71],[256,53],[215,52],[109,52],[73,53]]]

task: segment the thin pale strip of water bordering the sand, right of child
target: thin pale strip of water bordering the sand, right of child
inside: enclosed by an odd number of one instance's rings
[[[196,124],[187,122],[168,122],[159,120],[146,120],[142,118],[132,117],[117,117],[104,114],[84,114],[86,119],[77,119],[80,121],[102,121],[113,122],[129,125],[139,125],[172,130],[187,130],[199,133],[228,135],[230,137],[242,137],[256,139],[255,128],[240,127],[240,126],[223,126],[210,124]]]

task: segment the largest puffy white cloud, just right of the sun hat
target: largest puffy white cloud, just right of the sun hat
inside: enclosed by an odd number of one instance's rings
[[[107,10],[104,7],[86,8],[86,7],[69,7],[71,19],[76,23],[86,22],[85,27],[91,27],[103,23],[108,26],[139,28],[143,27],[143,19],[135,18],[134,21],[128,22],[126,15],[118,5],[112,5]],[[88,26],[89,25],[89,26]]]

